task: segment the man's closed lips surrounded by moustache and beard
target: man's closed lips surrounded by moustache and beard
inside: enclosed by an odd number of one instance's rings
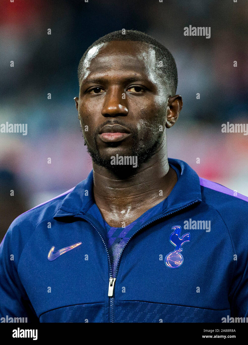
[[[99,132],[99,137],[104,142],[122,141],[130,135],[130,130],[121,125],[106,125]]]

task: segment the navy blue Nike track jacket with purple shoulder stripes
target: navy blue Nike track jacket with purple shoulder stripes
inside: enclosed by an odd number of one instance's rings
[[[248,317],[248,198],[188,164],[138,218],[112,272],[93,174],[17,217],[0,245],[0,322],[223,322]],[[154,212],[153,212],[154,209]]]

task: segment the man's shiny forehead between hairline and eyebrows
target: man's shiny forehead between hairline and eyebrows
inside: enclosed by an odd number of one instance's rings
[[[91,48],[83,62],[81,81],[96,73],[137,72],[155,79],[156,58],[152,46],[143,42],[110,41]]]

